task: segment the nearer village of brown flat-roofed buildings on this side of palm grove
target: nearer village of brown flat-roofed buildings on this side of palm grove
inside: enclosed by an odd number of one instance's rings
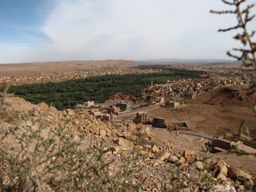
[[[186,103],[180,103],[176,99],[194,99],[204,91],[215,89],[219,86],[236,85],[237,83],[240,84],[240,82],[232,80],[213,78],[179,79],[178,81],[165,80],[160,85],[153,85],[152,82],[151,86],[141,90],[141,94],[149,98],[146,104],[140,104],[140,98],[115,93],[110,99],[122,99],[123,101],[109,106],[94,104],[94,101],[88,101],[84,105],[77,105],[76,109],[82,110],[84,114],[91,114],[105,122],[142,124],[153,128],[165,128],[174,134],[179,134],[179,131],[193,132],[189,121],[166,122],[163,117],[149,117],[147,109],[154,107],[169,107],[173,109],[186,107]],[[139,105],[130,107],[130,103]],[[66,109],[65,111],[69,115],[74,115],[75,113],[73,109]],[[120,115],[127,113],[136,113],[135,119],[123,119],[120,117]],[[205,142],[205,145],[213,148],[213,153],[221,154],[231,149],[242,149],[251,156],[256,156],[256,144],[239,139],[228,132],[220,138],[202,137],[202,141]]]

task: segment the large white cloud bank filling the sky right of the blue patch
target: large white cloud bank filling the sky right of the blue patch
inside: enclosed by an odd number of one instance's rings
[[[253,0],[249,0],[253,2]],[[230,59],[234,15],[221,0],[49,0],[41,30],[52,44],[34,50],[34,61]],[[253,12],[252,12],[253,13]],[[255,26],[256,21],[253,21]]]

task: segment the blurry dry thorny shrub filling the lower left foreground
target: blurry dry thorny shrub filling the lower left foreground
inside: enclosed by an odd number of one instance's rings
[[[138,157],[135,150],[127,157],[122,156],[121,167],[110,173],[113,161],[104,160],[109,149],[103,143],[97,144],[96,149],[91,143],[86,150],[80,150],[81,139],[68,126],[76,115],[66,115],[66,123],[55,129],[46,123],[45,115],[32,117],[34,110],[22,116],[9,113],[4,107],[5,98],[9,96],[7,89],[0,94],[0,114],[14,121],[14,125],[8,125],[5,119],[0,120],[0,191],[127,192],[140,189],[140,185],[133,183],[138,171],[132,167]],[[49,126],[47,134],[46,126]],[[6,145],[7,141],[17,145]]]

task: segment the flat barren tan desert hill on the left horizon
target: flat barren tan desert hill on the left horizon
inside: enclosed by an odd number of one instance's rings
[[[115,65],[136,64],[132,60],[87,60],[0,64],[0,75],[26,76],[37,73],[70,72],[91,70]]]

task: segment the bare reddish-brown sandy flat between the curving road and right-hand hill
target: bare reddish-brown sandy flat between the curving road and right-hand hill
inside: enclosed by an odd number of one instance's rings
[[[222,136],[225,132],[238,132],[243,120],[252,136],[256,136],[256,114],[252,109],[212,105],[187,105],[186,108],[156,108],[150,110],[149,118],[163,117],[165,122],[191,121],[195,132]],[[135,114],[123,115],[124,119],[135,119]]]

